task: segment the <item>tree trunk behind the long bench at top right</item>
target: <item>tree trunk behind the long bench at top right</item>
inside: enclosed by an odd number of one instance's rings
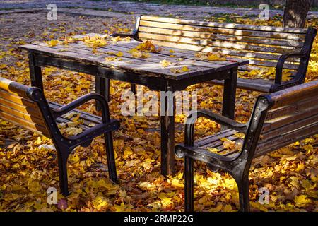
[[[309,9],[310,0],[287,0],[283,26],[287,28],[304,28]]]

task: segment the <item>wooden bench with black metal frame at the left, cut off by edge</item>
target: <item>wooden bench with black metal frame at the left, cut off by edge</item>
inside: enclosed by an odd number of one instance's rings
[[[97,100],[102,106],[102,117],[74,110],[89,100]],[[59,123],[71,122],[66,113],[80,114],[83,120],[83,133],[76,136],[64,136]],[[110,179],[117,182],[117,172],[112,144],[112,131],[119,129],[119,121],[110,119],[107,102],[98,94],[90,93],[74,100],[68,105],[49,103],[40,88],[28,87],[0,77],[0,118],[25,129],[52,138],[57,150],[59,165],[59,186],[61,193],[69,194],[67,179],[67,160],[78,145],[86,147],[93,138],[105,134],[105,148]],[[92,127],[93,126],[93,127]]]

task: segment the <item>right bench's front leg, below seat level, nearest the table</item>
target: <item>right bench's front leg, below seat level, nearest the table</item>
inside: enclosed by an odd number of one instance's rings
[[[193,159],[184,157],[184,210],[194,211]]]

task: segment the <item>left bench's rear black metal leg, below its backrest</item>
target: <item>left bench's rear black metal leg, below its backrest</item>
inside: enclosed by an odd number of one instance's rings
[[[61,190],[61,194],[64,196],[69,195],[69,183],[67,179],[67,159],[69,158],[69,154],[65,154],[66,151],[69,153],[69,150],[57,149],[59,165],[59,189]]]

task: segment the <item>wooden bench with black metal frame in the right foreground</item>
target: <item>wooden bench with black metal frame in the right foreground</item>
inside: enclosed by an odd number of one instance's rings
[[[237,182],[240,210],[249,210],[249,167],[255,157],[266,155],[285,145],[318,133],[318,80],[276,93],[260,95],[247,124],[207,110],[189,115],[185,126],[184,145],[176,145],[177,157],[184,157],[185,210],[193,211],[193,160],[206,162],[217,172],[229,172]],[[230,129],[194,141],[194,122],[206,117]],[[245,133],[245,138],[235,135]],[[238,150],[223,147],[220,138],[242,143]],[[214,151],[207,148],[216,148]]]

